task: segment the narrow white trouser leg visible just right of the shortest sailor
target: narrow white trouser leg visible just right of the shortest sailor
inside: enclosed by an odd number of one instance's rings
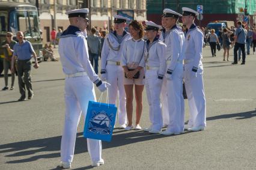
[[[163,85],[161,90],[161,108],[162,108],[162,115],[163,115],[163,126],[168,126],[169,124],[169,106],[168,106],[168,99],[167,99],[167,79],[165,76],[163,77]],[[169,88],[169,87],[168,87]]]

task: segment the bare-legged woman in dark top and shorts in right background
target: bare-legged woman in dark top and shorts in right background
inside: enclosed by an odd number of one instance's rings
[[[227,28],[223,29],[223,34],[222,34],[222,41],[223,41],[222,47],[224,49],[223,61],[226,61],[225,59],[226,52],[227,52],[227,61],[229,61],[228,57],[230,56],[230,44],[231,44],[230,35],[231,34],[233,34],[233,32],[230,31],[229,29]]]

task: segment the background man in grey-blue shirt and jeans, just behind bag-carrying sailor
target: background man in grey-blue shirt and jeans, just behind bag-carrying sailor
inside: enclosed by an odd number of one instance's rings
[[[96,35],[96,28],[91,28],[91,34],[88,35],[87,41],[91,65],[94,65],[94,71],[98,74],[99,54],[102,48],[102,43],[100,37]]]

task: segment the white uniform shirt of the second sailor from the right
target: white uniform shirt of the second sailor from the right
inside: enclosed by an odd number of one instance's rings
[[[163,31],[160,34],[160,39],[163,39]],[[183,61],[183,56],[181,56],[181,49],[184,41],[184,33],[181,28],[174,25],[171,28],[169,34],[165,37],[166,51],[165,59],[166,61],[171,61],[167,68],[169,70],[174,70],[177,62]]]

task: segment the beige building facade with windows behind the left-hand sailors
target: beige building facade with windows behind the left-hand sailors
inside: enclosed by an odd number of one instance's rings
[[[19,2],[36,5],[38,2],[40,29],[43,43],[50,41],[50,31],[53,28],[66,29],[69,26],[69,19],[66,11],[76,8],[90,9],[90,26],[98,28],[111,28],[113,14],[118,10],[132,10],[134,19],[145,20],[146,0],[0,0],[1,2]]]

